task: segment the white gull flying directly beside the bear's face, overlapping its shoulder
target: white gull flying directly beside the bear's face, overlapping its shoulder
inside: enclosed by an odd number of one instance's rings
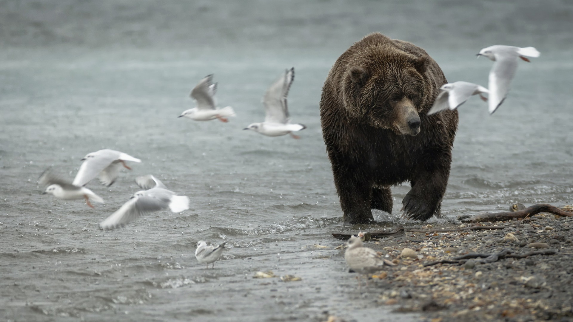
[[[482,93],[489,93],[488,89],[477,84],[466,81],[457,81],[456,83],[444,84],[439,88],[441,92],[434,101],[428,115],[444,111],[444,109],[456,109],[464,104],[470,96],[479,94],[483,101],[488,101]]]

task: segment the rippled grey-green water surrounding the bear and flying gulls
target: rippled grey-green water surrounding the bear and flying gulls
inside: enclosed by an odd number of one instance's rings
[[[479,49],[535,46],[541,56],[520,62],[494,115],[476,97],[460,107],[442,214],[560,206],[573,192],[571,30],[573,5],[558,0],[0,1],[0,312],[16,321],[394,319],[376,296],[352,291],[329,237],[350,228],[321,138],[328,70],[382,32],[426,49],[450,82],[487,86],[492,62],[476,60]],[[289,109],[308,127],[302,138],[242,131],[264,119],[265,89],[292,66]],[[219,105],[237,116],[177,119],[210,73]],[[143,160],[109,188],[89,184],[104,205],[40,195],[46,167],[71,180],[101,148]],[[191,209],[97,229],[143,174],[189,196]],[[375,217],[416,225],[397,219],[409,186],[393,191],[394,214]],[[215,270],[193,258],[199,239],[231,248]],[[268,269],[304,282],[252,279]]]

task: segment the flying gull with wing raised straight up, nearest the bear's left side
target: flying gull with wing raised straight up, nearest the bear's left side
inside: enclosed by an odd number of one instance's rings
[[[307,127],[303,124],[290,124],[291,118],[286,105],[286,96],[294,79],[294,67],[287,69],[284,75],[278,77],[262,98],[262,104],[265,105],[265,121],[250,124],[244,129],[252,129],[266,136],[280,136],[290,133],[294,139],[300,139],[300,136],[294,135],[292,132]]]

